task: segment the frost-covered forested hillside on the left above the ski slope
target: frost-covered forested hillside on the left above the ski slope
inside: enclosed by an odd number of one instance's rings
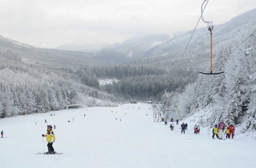
[[[80,101],[111,105],[113,95],[92,88],[76,73],[93,64],[89,60],[83,52],[35,48],[0,37],[0,117],[45,113]]]

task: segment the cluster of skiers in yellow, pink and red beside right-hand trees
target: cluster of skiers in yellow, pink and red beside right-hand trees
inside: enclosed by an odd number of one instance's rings
[[[234,130],[232,124],[225,127],[225,123],[221,120],[221,122],[218,125],[215,124],[214,129],[212,129],[212,138],[215,138],[216,135],[218,139],[223,139],[224,133],[226,134],[226,138],[230,138],[230,136],[234,138]]]

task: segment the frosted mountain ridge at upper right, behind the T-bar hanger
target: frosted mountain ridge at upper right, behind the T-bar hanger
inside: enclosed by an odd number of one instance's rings
[[[229,45],[233,43],[233,40],[237,39],[240,36],[244,36],[244,32],[249,32],[255,29],[256,27],[256,9],[250,10],[246,13],[240,14],[237,17],[234,17],[230,21],[215,25],[213,31],[213,47],[214,54],[216,50],[223,48],[223,45]],[[174,36],[169,41],[165,42],[162,45],[156,46],[148,50],[144,57],[154,57],[156,55],[172,55],[172,53],[180,53],[183,51],[187,45],[187,42],[193,31],[189,31],[184,34],[179,34]],[[200,58],[200,53],[209,52],[209,32],[207,31],[206,25],[204,28],[197,29],[193,38],[188,45],[185,58]]]

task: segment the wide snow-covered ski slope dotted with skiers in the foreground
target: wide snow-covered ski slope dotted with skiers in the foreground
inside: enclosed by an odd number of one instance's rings
[[[5,133],[0,138],[0,167],[256,167],[255,141],[211,139],[204,128],[194,134],[195,123],[188,123],[185,134],[178,128],[181,123],[170,131],[170,122],[153,122],[148,104],[50,113],[0,120]],[[56,125],[53,147],[64,154],[35,155],[47,149],[41,137],[46,133],[45,119]]]

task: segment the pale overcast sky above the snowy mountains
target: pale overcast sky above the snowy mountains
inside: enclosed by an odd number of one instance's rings
[[[113,43],[194,29],[203,0],[0,0],[0,35],[38,47]],[[209,0],[205,19],[224,23],[255,0]],[[202,21],[198,27],[206,26]]]

